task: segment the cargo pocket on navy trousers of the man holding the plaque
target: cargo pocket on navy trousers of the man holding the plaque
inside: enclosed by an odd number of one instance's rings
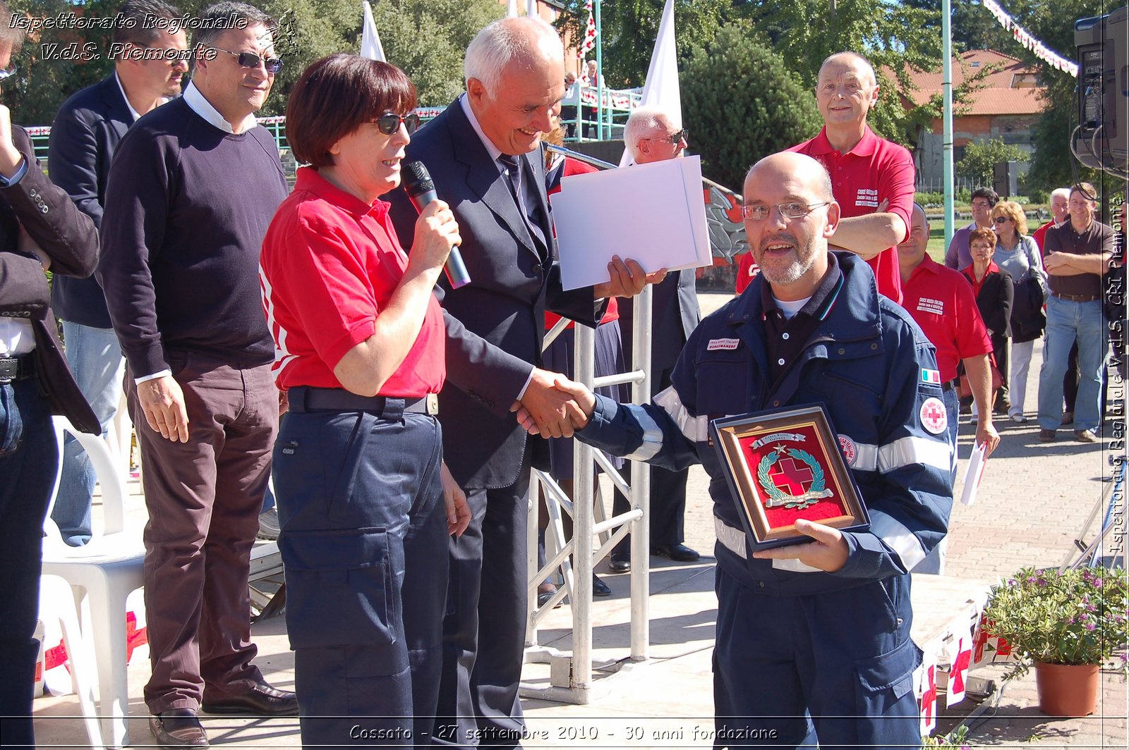
[[[913,671],[920,663],[921,650],[909,638],[893,651],[855,662],[858,716],[883,716],[887,720],[900,716],[907,720],[858,722],[860,745],[892,747],[920,742],[918,705],[913,694]],[[874,735],[864,736],[866,732],[874,732]]]

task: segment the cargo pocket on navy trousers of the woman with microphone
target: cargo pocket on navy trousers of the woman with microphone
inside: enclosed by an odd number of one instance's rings
[[[285,531],[279,552],[291,648],[391,644],[400,637],[384,528]]]

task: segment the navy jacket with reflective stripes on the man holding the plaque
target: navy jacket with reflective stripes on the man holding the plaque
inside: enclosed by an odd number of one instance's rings
[[[796,364],[769,391],[761,285],[702,320],[675,365],[673,386],[642,406],[597,397],[580,440],[618,456],[671,469],[701,462],[714,513],[741,529],[737,504],[712,445],[709,420],[822,402],[840,435],[855,445],[848,465],[870,513],[870,530],[844,533],[850,556],[842,570],[800,572],[793,561],[744,559],[719,547],[718,564],[754,591],[811,594],[907,573],[944,537],[952,510],[952,445],[945,431],[920,420],[939,386],[922,382],[936,370],[934,347],[899,306],[879,297],[866,263],[837,253],[843,284]],[[710,342],[737,341],[710,347]],[[723,529],[724,531],[724,529]],[[774,563],[774,564],[773,564]],[[806,567],[806,566],[804,566]]]

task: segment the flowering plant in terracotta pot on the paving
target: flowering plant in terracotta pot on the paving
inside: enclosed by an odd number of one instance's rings
[[[1097,705],[1101,667],[1118,659],[1117,669],[1126,673],[1127,605],[1122,568],[1025,567],[992,588],[984,618],[1018,659],[1007,678],[1034,663],[1043,713],[1086,716]]]

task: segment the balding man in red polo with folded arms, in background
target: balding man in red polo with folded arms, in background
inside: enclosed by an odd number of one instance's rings
[[[869,61],[840,52],[823,61],[815,98],[823,130],[794,145],[821,161],[831,175],[831,187],[843,218],[831,244],[866,259],[878,291],[902,301],[901,276],[894,246],[909,232],[913,205],[913,157],[902,147],[878,138],[866,115],[878,100],[878,83]],[[878,206],[885,203],[879,211]]]

